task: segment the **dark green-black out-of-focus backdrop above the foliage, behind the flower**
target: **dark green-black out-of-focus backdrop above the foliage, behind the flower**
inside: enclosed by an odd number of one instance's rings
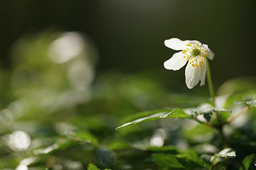
[[[97,72],[153,70],[184,85],[182,71],[163,62],[174,50],[164,39],[196,39],[215,53],[218,86],[237,76],[255,76],[255,1],[94,0],[1,1],[1,67],[10,67],[13,42],[45,29],[81,31],[99,51]]]

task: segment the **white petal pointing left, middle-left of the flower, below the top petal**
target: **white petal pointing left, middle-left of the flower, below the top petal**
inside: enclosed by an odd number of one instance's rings
[[[164,62],[164,68],[178,70],[183,67],[187,62],[187,58],[184,58],[184,53],[179,52],[173,54],[172,58]]]

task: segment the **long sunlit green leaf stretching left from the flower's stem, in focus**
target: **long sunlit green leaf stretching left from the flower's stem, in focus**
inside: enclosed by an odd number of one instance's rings
[[[180,110],[179,108],[175,108],[174,110],[172,110],[167,114],[166,114],[166,111],[164,111],[164,112],[155,113],[154,115],[150,115],[148,117],[138,118],[137,120],[128,122],[124,125],[121,125],[120,127],[116,127],[116,129],[125,127],[127,125],[138,124],[140,122],[147,122],[150,120],[159,120],[163,118],[191,118],[191,116],[187,115],[184,111]]]

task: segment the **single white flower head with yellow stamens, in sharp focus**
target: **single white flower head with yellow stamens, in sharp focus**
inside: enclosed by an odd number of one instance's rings
[[[178,38],[166,39],[164,45],[173,50],[182,50],[175,53],[172,58],[164,62],[166,69],[178,70],[188,65],[185,69],[186,85],[189,89],[192,89],[201,81],[200,86],[205,84],[206,74],[206,57],[213,59],[214,53],[208,48],[207,45],[200,43],[199,41],[182,41]]]

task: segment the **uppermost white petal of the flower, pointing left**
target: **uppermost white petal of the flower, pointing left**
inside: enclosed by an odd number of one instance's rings
[[[168,48],[172,48],[173,50],[184,50],[185,48],[188,48],[188,46],[186,46],[188,43],[188,40],[182,41],[178,38],[166,39],[164,41],[164,45]]]

